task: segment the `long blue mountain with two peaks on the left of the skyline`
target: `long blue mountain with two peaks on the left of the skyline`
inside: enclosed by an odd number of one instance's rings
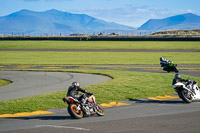
[[[92,34],[105,30],[135,29],[113,22],[106,22],[85,14],[72,14],[54,9],[45,12],[21,10],[0,17],[0,34]]]

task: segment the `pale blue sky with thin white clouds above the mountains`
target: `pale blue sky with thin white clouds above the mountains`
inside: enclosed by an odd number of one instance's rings
[[[200,15],[199,5],[200,0],[0,0],[0,16],[21,9],[57,9],[139,27],[149,19],[162,19],[184,13]]]

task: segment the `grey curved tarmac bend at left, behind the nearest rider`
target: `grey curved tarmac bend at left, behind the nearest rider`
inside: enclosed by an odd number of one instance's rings
[[[0,101],[30,97],[49,92],[64,91],[77,81],[82,87],[111,78],[107,76],[69,72],[0,71],[0,79],[12,81],[0,89]]]

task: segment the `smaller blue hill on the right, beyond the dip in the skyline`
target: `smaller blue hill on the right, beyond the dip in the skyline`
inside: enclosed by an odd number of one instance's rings
[[[200,29],[200,16],[187,13],[165,19],[150,19],[138,30],[164,31],[164,30],[190,30]]]

